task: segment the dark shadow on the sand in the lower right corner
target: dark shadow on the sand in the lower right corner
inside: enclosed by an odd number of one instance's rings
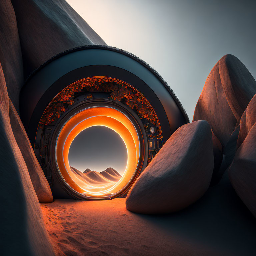
[[[256,219],[237,196],[227,171],[218,185],[183,211],[136,215],[167,235],[223,253],[218,255],[256,255]]]

